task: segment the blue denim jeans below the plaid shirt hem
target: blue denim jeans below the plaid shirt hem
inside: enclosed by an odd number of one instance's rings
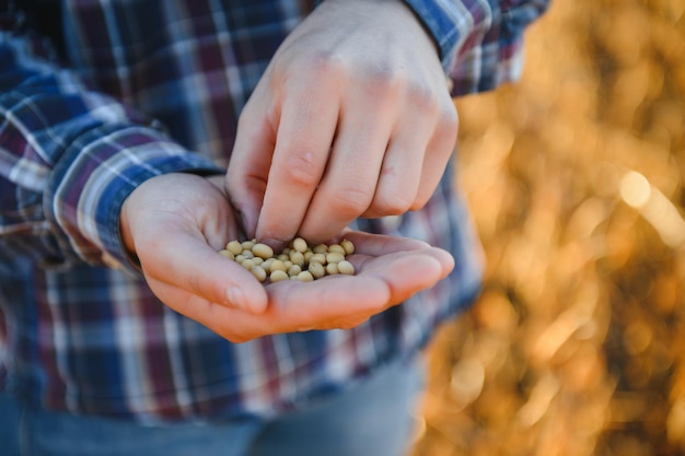
[[[35,410],[0,395],[5,456],[402,456],[423,365],[393,362],[348,390],[272,420],[140,426]]]

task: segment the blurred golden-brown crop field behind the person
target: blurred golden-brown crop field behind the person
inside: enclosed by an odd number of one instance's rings
[[[487,277],[414,455],[684,455],[685,0],[553,0],[456,103]]]

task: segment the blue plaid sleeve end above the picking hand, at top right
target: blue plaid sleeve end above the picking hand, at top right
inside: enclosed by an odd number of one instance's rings
[[[432,35],[453,95],[516,80],[526,26],[547,0],[404,0]]]

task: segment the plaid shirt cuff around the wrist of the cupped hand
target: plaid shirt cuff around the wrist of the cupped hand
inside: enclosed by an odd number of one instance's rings
[[[65,256],[137,270],[119,233],[124,200],[147,179],[167,173],[223,173],[211,161],[141,126],[95,128],[69,147],[48,183],[45,213],[59,227]]]

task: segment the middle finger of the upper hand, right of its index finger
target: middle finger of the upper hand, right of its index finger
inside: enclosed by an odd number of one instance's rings
[[[383,90],[378,92],[359,90],[344,106],[326,174],[300,227],[304,238],[330,238],[365,212],[373,200],[396,116],[394,97]]]

